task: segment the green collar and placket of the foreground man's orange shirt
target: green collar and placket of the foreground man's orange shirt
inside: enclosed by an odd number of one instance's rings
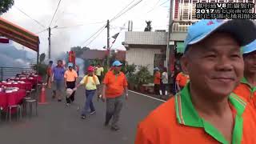
[[[181,93],[175,96],[175,110],[178,123],[185,126],[200,127],[215,138],[218,142],[227,144],[226,138],[222,133],[217,130],[210,122],[206,122],[198,115],[198,112],[194,109],[190,96],[190,83],[187,84]],[[230,94],[229,102],[237,111],[234,119],[234,130],[232,136],[233,144],[240,144],[242,141],[242,126],[243,118],[242,114],[246,108],[246,102],[239,98],[236,94]]]

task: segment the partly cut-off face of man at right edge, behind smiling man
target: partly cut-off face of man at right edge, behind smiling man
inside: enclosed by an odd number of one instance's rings
[[[244,55],[245,72],[249,74],[256,74],[256,51]]]

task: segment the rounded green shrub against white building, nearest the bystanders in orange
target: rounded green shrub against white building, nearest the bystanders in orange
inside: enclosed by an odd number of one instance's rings
[[[136,80],[139,85],[150,83],[150,71],[147,66],[139,66],[138,73],[135,74]]]

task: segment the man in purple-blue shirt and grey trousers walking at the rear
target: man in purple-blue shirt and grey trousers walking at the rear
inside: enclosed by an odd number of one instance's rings
[[[53,78],[54,83],[53,98],[57,97],[58,102],[62,102],[62,94],[64,90],[64,73],[65,69],[62,66],[62,60],[58,60],[58,66],[53,68]]]

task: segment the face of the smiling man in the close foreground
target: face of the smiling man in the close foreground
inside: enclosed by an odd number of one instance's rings
[[[190,75],[191,86],[227,96],[243,76],[244,62],[238,42],[230,34],[215,33],[189,47],[182,69]]]

